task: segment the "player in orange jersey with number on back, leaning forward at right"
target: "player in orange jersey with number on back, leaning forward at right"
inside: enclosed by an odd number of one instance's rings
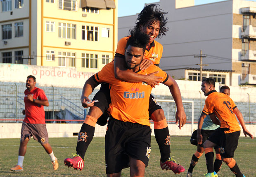
[[[213,123],[220,125],[220,128],[204,142],[206,166],[208,170],[206,177],[218,177],[213,167],[214,154],[212,147],[216,145],[220,146],[222,161],[228,165],[236,177],[244,177],[235,159],[233,159],[240,136],[240,126],[237,119],[242,126],[244,135],[248,135],[251,139],[254,137],[246,129],[242,113],[238,110],[234,101],[227,94],[216,92],[214,87],[215,80],[213,78],[204,78],[202,80],[201,90],[204,92],[205,96],[208,96],[205,100],[208,113]]]

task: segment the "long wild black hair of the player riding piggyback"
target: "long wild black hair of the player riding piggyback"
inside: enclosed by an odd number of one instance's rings
[[[150,4],[145,6],[138,15],[135,28],[139,30],[142,26],[152,25],[159,22],[160,29],[157,37],[161,38],[162,36],[166,35],[166,32],[168,31],[168,27],[166,27],[168,18],[164,17],[164,15],[168,14],[168,12],[162,12],[162,9],[157,8],[157,6],[159,5]]]

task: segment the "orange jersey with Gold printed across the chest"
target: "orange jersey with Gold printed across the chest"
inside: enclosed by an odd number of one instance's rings
[[[159,71],[156,76],[163,77],[165,83],[168,80],[168,74],[159,67],[151,65],[148,69],[139,70],[137,74],[150,74]],[[106,64],[102,70],[93,76],[97,83],[109,83],[110,97],[112,105],[110,114],[117,120],[123,122],[133,122],[150,126],[149,123],[149,96],[152,86],[147,83],[129,83],[118,80],[114,76],[114,63]]]

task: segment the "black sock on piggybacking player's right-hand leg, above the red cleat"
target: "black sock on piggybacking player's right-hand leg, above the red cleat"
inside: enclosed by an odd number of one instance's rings
[[[171,139],[168,126],[164,129],[154,129],[156,142],[159,146],[161,161],[165,162],[170,157]]]

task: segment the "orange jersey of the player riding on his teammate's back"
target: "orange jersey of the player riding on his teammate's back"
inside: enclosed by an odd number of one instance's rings
[[[124,58],[127,39],[128,37],[123,37],[122,39],[120,39],[120,41],[117,44],[115,57],[118,56]],[[146,49],[144,58],[152,60],[153,64],[159,66],[162,53],[163,46],[159,42],[153,41],[150,44],[149,49]]]

